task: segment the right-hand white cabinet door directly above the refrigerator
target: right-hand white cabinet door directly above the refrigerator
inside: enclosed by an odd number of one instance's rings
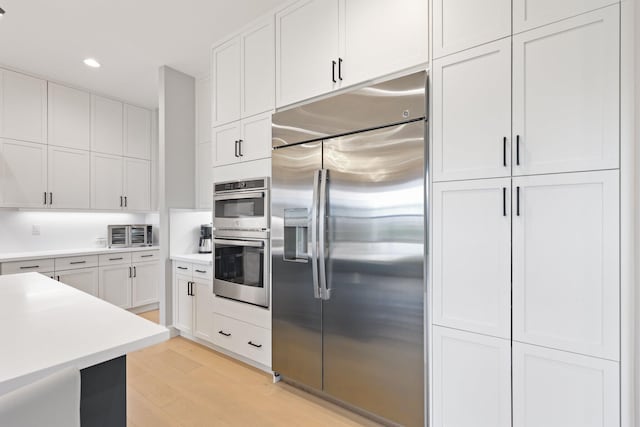
[[[428,61],[428,2],[342,0],[341,84],[360,83]],[[393,30],[384,28],[393,25]]]

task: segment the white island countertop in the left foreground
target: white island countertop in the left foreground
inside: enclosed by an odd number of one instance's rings
[[[38,273],[0,276],[0,395],[169,339],[169,330]]]

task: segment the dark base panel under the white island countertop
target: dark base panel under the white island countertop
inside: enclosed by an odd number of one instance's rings
[[[80,371],[80,425],[127,426],[127,356]]]

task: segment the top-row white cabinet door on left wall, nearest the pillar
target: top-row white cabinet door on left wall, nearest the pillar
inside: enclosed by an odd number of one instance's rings
[[[151,159],[151,111],[125,104],[124,155]]]

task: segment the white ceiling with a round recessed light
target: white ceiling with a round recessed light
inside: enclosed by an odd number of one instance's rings
[[[156,107],[160,66],[207,75],[212,43],[282,1],[0,0],[0,65]]]

